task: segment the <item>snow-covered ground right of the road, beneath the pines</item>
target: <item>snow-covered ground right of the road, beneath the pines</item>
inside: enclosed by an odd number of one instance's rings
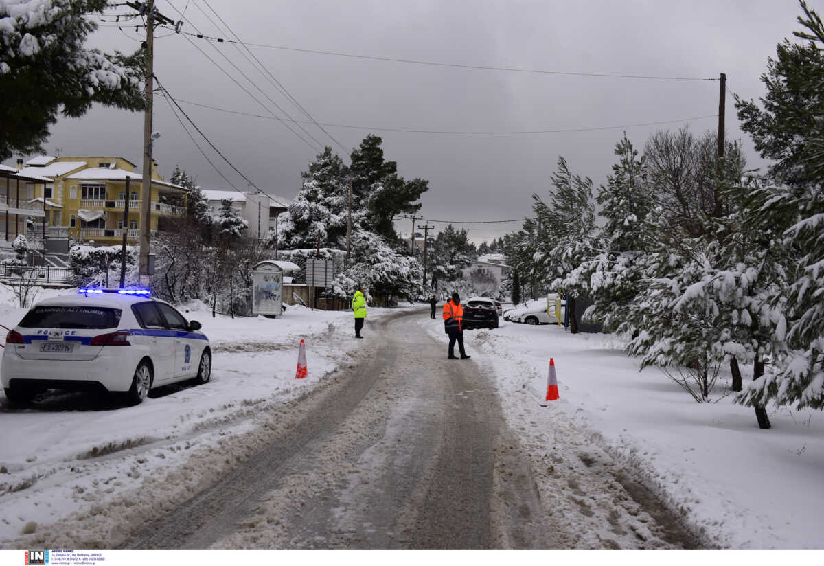
[[[419,324],[444,339],[440,320]],[[530,442],[551,450],[559,419],[578,425],[715,545],[824,547],[822,412],[770,407],[772,428],[761,430],[753,409],[723,396],[728,381],[719,378],[717,402],[698,404],[658,368],[639,372],[609,334],[502,321],[466,332],[465,342],[494,372],[510,426]],[[560,400],[541,407],[550,358]]]

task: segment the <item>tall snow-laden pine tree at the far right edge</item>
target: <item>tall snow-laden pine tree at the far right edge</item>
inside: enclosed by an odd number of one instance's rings
[[[800,5],[803,30],[795,35],[808,43],[778,44],[761,77],[763,110],[736,99],[742,129],[762,157],[775,160],[770,174],[777,186],[765,188],[762,208],[783,229],[794,260],[787,270],[789,352],[738,400],[824,409],[824,26],[806,2]]]

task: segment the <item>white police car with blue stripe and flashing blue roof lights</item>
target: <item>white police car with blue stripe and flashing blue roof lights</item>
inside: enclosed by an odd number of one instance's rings
[[[146,289],[80,289],[37,303],[8,333],[0,381],[15,404],[63,389],[137,405],[152,387],[209,380],[212,351],[199,329]]]

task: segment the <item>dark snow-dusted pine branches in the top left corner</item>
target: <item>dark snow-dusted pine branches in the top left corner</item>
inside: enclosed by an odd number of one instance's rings
[[[143,55],[84,49],[108,0],[0,0],[0,161],[42,152],[58,112],[143,109]]]

